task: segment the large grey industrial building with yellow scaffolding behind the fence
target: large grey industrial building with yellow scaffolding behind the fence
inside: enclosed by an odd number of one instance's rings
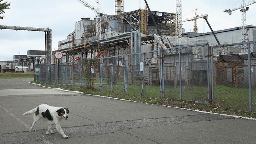
[[[160,33],[165,38],[167,48],[175,46],[176,14],[151,12],[160,26]],[[153,35],[157,33],[157,29],[149,15],[147,10],[135,10],[115,16],[105,15],[101,19],[101,39],[97,39],[96,20],[82,18],[75,23],[75,30],[67,36],[67,39],[58,43],[58,50],[61,50],[65,57],[62,61],[72,61],[78,54],[82,57],[97,57],[101,51],[104,52],[105,57],[130,53],[134,50],[129,48],[133,31],[140,31],[142,43],[140,52],[157,49],[154,48],[154,43],[159,39]],[[200,43],[196,38],[183,39],[185,45]],[[109,53],[110,51],[114,52]]]

